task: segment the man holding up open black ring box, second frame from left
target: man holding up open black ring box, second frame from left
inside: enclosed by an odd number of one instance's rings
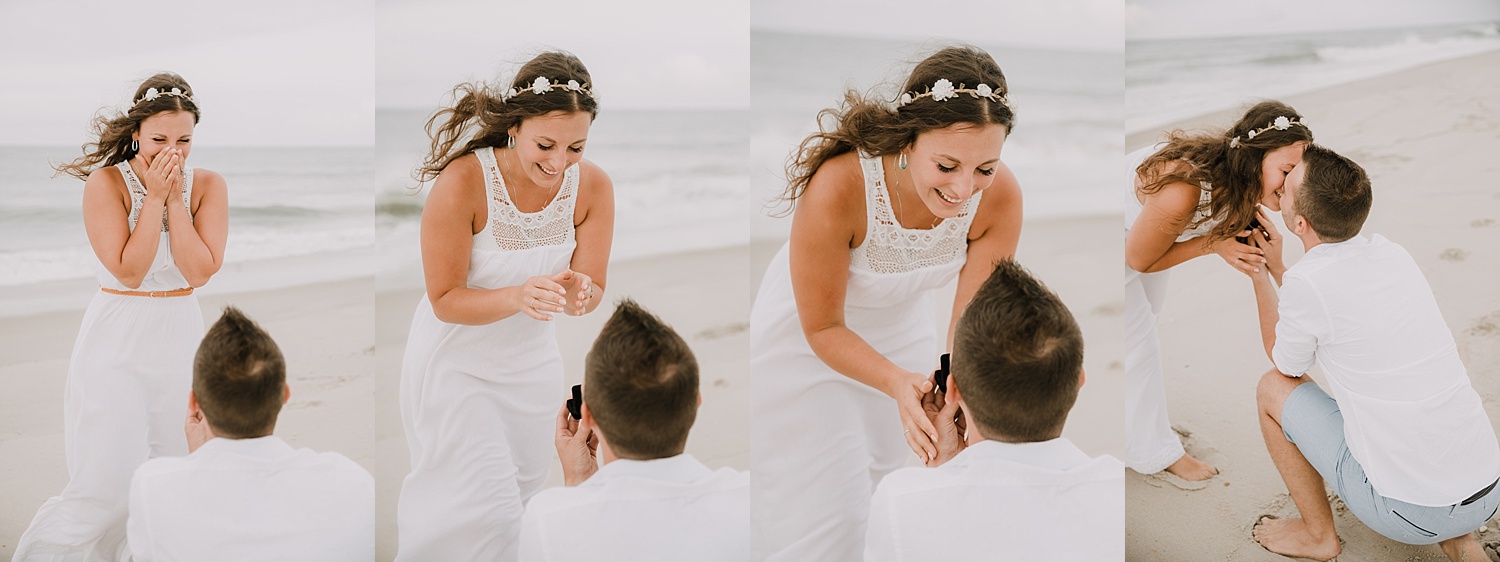
[[[584,363],[582,420],[558,411],[567,486],[531,498],[520,561],[748,561],[750,478],[682,453],[700,402],[687,342],[620,303]]]

